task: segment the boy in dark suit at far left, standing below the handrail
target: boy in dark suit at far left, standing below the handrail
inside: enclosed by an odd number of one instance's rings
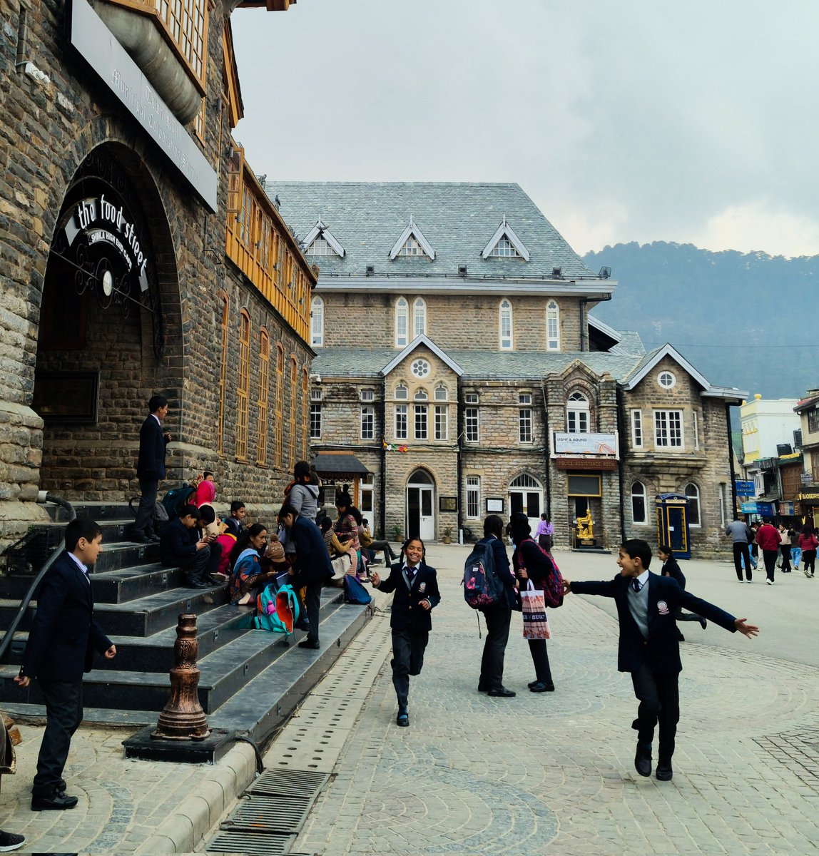
[[[15,681],[28,687],[37,678],[45,698],[45,732],[32,787],[33,811],[68,809],[76,797],[65,793],[62,770],[71,738],[82,722],[82,675],[94,651],[116,657],[116,646],[94,621],[88,566],[97,561],[103,535],[93,520],[78,518],[65,529],[66,552],[45,574],[37,612]]]

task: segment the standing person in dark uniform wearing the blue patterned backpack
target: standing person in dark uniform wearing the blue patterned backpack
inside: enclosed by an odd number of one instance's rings
[[[481,676],[478,680],[478,690],[497,698],[513,698],[516,693],[503,686],[503,660],[509,641],[512,610],[517,609],[518,605],[515,593],[517,581],[511,568],[509,568],[509,557],[506,547],[501,541],[502,537],[503,520],[497,514],[490,514],[484,520],[484,538],[478,541],[478,544],[488,544],[492,550],[492,558],[495,560],[495,574],[503,586],[504,599],[501,603],[481,610],[486,620],[486,641],[484,642],[484,656],[481,657]]]

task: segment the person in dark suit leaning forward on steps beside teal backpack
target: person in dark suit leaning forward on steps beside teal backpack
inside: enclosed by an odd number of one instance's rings
[[[319,648],[318,613],[321,609],[321,590],[325,580],[333,576],[327,544],[324,544],[324,537],[318,526],[309,517],[302,517],[288,502],[279,510],[279,523],[287,529],[288,541],[292,542],[296,549],[293,567],[288,571],[294,578],[294,591],[305,587],[307,589],[305,603],[302,605],[305,607],[310,629],[307,631],[307,638],[300,641],[299,647]]]

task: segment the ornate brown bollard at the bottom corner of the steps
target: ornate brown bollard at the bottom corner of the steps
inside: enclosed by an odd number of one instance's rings
[[[170,670],[170,698],[159,714],[157,730],[151,737],[163,740],[205,740],[211,734],[196,692],[199,686],[199,669],[196,668],[198,654],[196,615],[180,615],[174,643],[176,665]]]

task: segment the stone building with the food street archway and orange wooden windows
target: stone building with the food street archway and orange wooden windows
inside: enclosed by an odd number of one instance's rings
[[[154,393],[170,483],[275,504],[306,453],[316,276],[231,137],[236,5],[3,3],[0,541],[134,494]]]

